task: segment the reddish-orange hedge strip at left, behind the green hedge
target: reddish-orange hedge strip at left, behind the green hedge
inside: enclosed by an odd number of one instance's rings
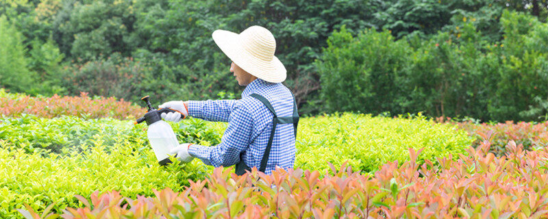
[[[8,93],[0,89],[0,114],[21,116],[33,114],[45,118],[56,116],[82,116],[85,118],[112,117],[118,119],[138,118],[147,111],[131,102],[115,97],[94,96],[82,92],[80,96],[29,96]]]

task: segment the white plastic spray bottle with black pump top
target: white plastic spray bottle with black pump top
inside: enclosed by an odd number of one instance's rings
[[[135,124],[142,123],[143,121],[147,122],[149,126],[147,137],[149,138],[150,145],[156,155],[156,159],[158,159],[158,164],[164,166],[171,163],[171,160],[169,160],[169,151],[179,146],[179,141],[177,141],[177,137],[171,126],[162,120],[160,114],[175,111],[168,108],[155,110],[150,104],[149,96],[145,96],[141,100],[147,103],[149,109],[145,116],[136,120]]]

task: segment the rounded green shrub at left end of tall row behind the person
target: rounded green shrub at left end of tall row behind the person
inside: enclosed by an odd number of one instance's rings
[[[397,82],[408,64],[406,42],[395,42],[389,31],[372,29],[353,38],[343,27],[327,44],[316,64],[328,112],[401,112]]]

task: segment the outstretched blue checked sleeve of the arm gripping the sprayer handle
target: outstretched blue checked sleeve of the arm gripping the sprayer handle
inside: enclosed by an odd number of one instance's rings
[[[188,101],[188,114],[213,122],[228,122],[237,100]]]

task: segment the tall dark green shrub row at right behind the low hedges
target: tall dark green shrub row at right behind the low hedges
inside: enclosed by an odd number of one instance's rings
[[[482,38],[473,17],[429,40],[336,31],[316,62],[323,106],[328,112],[546,120],[548,24],[508,11],[500,23],[503,39],[494,43]]]

